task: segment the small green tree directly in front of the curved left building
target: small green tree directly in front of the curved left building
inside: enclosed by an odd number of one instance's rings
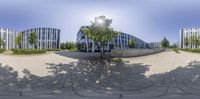
[[[35,49],[35,44],[37,43],[37,34],[36,32],[31,32],[30,36],[28,37],[29,43],[33,46],[32,48]]]

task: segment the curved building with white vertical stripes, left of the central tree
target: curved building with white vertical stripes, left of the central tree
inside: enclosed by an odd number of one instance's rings
[[[22,49],[32,49],[28,38],[32,32],[37,34],[35,49],[60,49],[60,29],[56,28],[32,28],[20,32],[22,35]]]

